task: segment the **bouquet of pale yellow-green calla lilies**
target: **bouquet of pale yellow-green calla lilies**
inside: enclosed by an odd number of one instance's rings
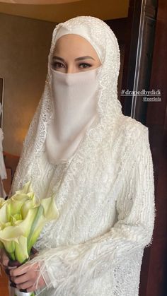
[[[54,197],[39,200],[30,182],[26,183],[11,199],[0,198],[0,248],[6,251],[9,259],[24,264],[30,258],[42,227],[58,217]],[[15,289],[15,295],[35,294]]]

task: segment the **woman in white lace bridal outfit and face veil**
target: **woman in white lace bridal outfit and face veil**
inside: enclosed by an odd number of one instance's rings
[[[137,296],[154,227],[148,129],[117,100],[120,52],[112,30],[82,16],[56,26],[47,81],[12,191],[32,181],[54,194],[59,219],[42,230],[39,254],[11,271],[41,296]]]

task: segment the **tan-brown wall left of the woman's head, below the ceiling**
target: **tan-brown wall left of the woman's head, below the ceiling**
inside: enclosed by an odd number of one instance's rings
[[[0,13],[0,77],[4,78],[4,151],[20,155],[47,75],[55,24]]]

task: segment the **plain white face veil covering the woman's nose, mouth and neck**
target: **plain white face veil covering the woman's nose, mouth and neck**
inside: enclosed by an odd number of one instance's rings
[[[97,72],[61,73],[52,69],[54,116],[45,141],[50,163],[67,162],[95,119]]]

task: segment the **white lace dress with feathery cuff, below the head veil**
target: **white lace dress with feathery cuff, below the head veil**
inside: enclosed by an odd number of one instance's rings
[[[62,182],[55,199],[59,220],[44,228],[35,246],[45,250],[38,256],[47,283],[41,296],[138,295],[143,249],[154,226],[153,167],[148,129],[120,117],[117,131],[113,147],[107,143],[95,162],[86,160],[77,179]],[[109,153],[114,162],[108,162]],[[55,194],[53,184],[60,184],[68,164],[55,169],[45,153],[38,163],[38,194]]]

